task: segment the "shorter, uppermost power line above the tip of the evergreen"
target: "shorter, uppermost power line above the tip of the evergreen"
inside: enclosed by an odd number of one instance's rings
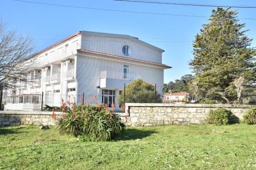
[[[183,5],[183,6],[199,6],[199,7],[224,7],[224,8],[256,8],[256,6],[233,6],[233,5],[210,5],[210,4],[191,4],[191,3],[175,3],[175,2],[160,2],[160,1],[136,1],[136,0],[114,0],[135,3],[149,3],[149,4],[165,4],[165,5]]]

